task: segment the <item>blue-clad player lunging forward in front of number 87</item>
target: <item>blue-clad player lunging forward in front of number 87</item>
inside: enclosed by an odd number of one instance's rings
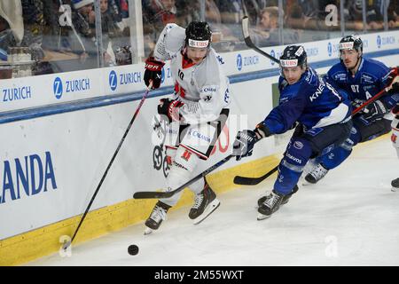
[[[239,131],[233,144],[233,154],[240,160],[252,155],[260,139],[295,127],[278,165],[274,189],[258,201],[258,220],[270,217],[286,204],[298,190],[298,179],[309,159],[340,145],[352,127],[348,95],[336,91],[308,66],[302,46],[287,46],[280,57],[280,68],[278,106],[254,130]]]

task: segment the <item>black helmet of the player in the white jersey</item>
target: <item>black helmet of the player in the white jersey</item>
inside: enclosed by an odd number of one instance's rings
[[[210,46],[212,31],[205,21],[192,21],[185,29],[185,44],[190,47]]]

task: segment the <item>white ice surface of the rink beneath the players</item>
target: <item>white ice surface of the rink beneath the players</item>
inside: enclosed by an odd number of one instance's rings
[[[254,206],[275,177],[220,194],[221,206],[200,225],[179,209],[151,235],[132,225],[74,247],[70,257],[27,265],[399,265],[399,192],[390,185],[399,160],[390,144],[385,137],[357,146],[270,219],[257,221]]]

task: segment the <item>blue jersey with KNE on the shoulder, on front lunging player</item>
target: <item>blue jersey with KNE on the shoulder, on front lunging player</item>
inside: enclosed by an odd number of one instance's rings
[[[292,85],[280,76],[278,89],[279,105],[263,121],[272,134],[290,130],[295,122],[306,130],[322,128],[347,121],[351,114],[346,92],[336,91],[310,67]]]

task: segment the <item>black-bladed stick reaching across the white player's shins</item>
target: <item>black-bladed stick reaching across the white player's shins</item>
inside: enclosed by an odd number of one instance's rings
[[[179,187],[177,187],[175,190],[172,190],[170,192],[137,192],[137,193],[133,194],[133,198],[135,198],[135,199],[152,199],[152,198],[160,199],[160,198],[172,197],[176,193],[181,192],[182,190],[184,190],[184,188],[187,187],[188,185],[191,185],[192,183],[196,182],[200,178],[207,176],[208,173],[210,173],[211,171],[214,171],[215,169],[219,168],[224,163],[228,162],[232,157],[235,157],[235,156],[232,155],[232,154],[228,155],[223,160],[221,160],[219,162],[216,162],[215,165],[213,165],[212,167],[208,168],[207,170],[204,170],[203,172],[200,173],[200,175],[198,175],[196,177],[193,177],[188,182],[186,182],[184,185],[180,185]]]

